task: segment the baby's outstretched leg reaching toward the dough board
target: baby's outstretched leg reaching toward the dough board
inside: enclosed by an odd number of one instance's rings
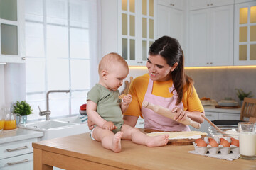
[[[167,145],[169,141],[168,134],[150,137],[139,131],[137,128],[132,128],[129,125],[122,125],[121,131],[124,132],[122,139],[132,140],[134,143],[146,145],[148,147],[161,147]]]

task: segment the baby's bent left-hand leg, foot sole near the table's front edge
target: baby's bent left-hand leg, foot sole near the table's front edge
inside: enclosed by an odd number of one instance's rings
[[[92,132],[92,137],[94,137],[95,140],[102,142],[102,147],[110,149],[114,152],[121,152],[122,134],[122,132],[117,132],[114,134],[110,130],[105,130],[97,126]]]

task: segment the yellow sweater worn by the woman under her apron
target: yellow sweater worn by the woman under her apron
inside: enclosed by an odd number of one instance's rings
[[[137,77],[132,81],[129,87],[129,94],[132,94],[132,102],[129,104],[129,108],[124,113],[124,115],[134,115],[142,117],[142,102],[146,94],[146,89],[149,84],[149,74],[144,74],[141,77]],[[165,98],[171,98],[172,93],[169,92],[169,87],[173,84],[172,80],[169,81],[154,81],[152,94],[156,96],[161,96]],[[192,93],[193,91],[193,93]],[[183,94],[182,103],[184,106],[184,111],[199,111],[203,112],[203,106],[196,89],[194,86],[190,86],[188,91]]]

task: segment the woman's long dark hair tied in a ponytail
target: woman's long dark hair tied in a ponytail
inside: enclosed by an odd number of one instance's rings
[[[176,62],[178,63],[174,71],[170,72],[171,79],[174,82],[174,88],[178,94],[178,100],[176,102],[176,105],[178,105],[182,101],[183,93],[193,84],[193,79],[188,77],[184,72],[184,55],[181,45],[175,38],[163,36],[149,47],[149,55],[161,55],[169,66],[173,66]]]

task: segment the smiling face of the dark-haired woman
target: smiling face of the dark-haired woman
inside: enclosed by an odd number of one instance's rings
[[[149,55],[146,67],[149,69],[149,77],[153,81],[167,81],[171,79],[170,72],[176,68],[167,64],[161,55]]]

